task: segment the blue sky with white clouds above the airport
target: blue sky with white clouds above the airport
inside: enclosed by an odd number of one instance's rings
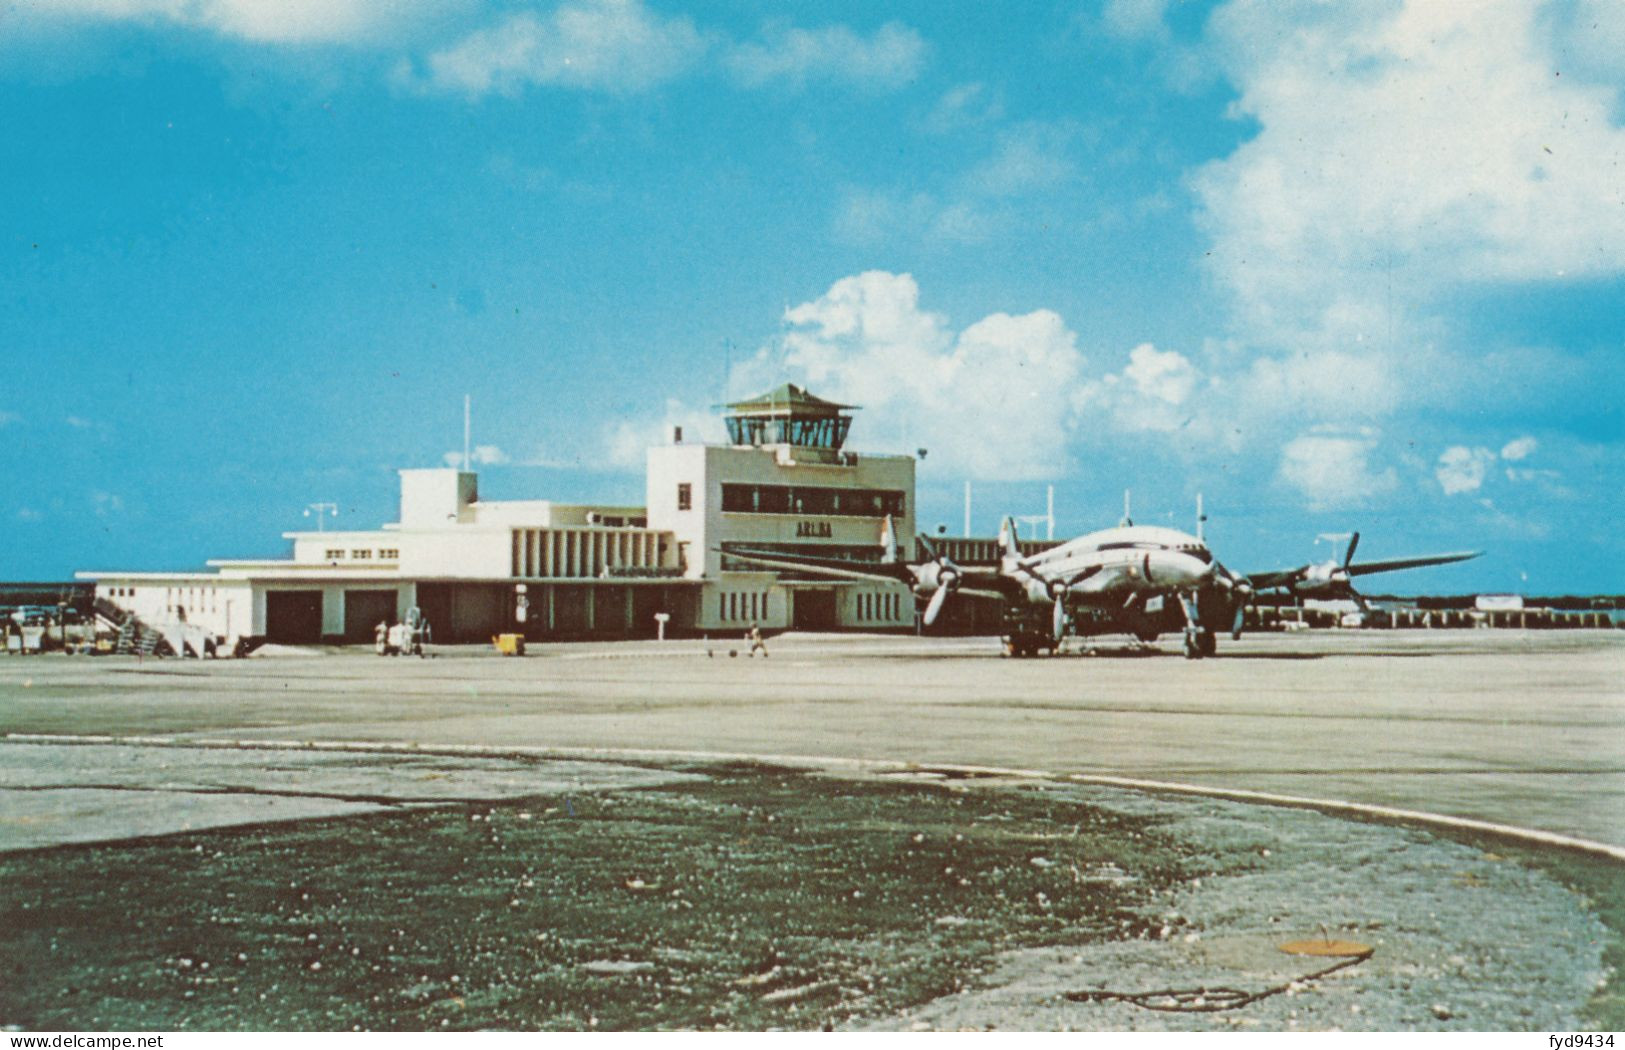
[[[1622,592],[1625,10],[13,0],[0,577],[635,502],[777,382],[920,520]]]

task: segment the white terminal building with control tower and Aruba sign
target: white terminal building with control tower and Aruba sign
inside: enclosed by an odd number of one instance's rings
[[[239,640],[370,642],[418,608],[436,642],[652,637],[668,631],[895,629],[902,584],[764,572],[730,546],[878,559],[886,518],[915,535],[915,460],[843,449],[848,405],[795,385],[726,406],[728,444],[648,450],[642,507],[483,501],[468,470],[401,470],[400,520],[292,532],[292,556],[208,572],[80,572],[151,624]]]

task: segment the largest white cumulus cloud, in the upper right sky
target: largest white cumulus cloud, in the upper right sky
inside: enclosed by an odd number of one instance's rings
[[[1235,0],[1211,29],[1259,132],[1193,187],[1254,332],[1625,271],[1617,83],[1568,75],[1534,0]]]

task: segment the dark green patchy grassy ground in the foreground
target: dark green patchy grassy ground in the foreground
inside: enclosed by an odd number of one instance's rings
[[[1144,819],[759,769],[0,857],[0,1024],[816,1029],[1142,936]]]

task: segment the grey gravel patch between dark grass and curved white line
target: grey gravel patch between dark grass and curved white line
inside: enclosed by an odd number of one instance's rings
[[[1610,977],[1609,930],[1576,892],[1495,852],[1306,811],[1066,788],[1193,848],[1196,873],[1159,896],[1146,939],[1003,954],[982,987],[881,1029],[1565,1030]],[[1336,959],[1282,943],[1337,938]],[[1201,990],[1209,990],[1206,1001]],[[1269,993],[1237,1009],[1214,988]],[[1206,1011],[1147,1009],[1121,993],[1186,991]],[[1081,993],[1092,1001],[1076,1001]],[[1072,996],[1072,998],[1068,998]],[[1172,1003],[1168,998],[1154,1000]]]

